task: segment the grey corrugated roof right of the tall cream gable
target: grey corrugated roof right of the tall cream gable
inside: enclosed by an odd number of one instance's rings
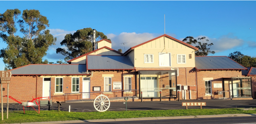
[[[227,56],[195,57],[197,69],[247,69]]]

